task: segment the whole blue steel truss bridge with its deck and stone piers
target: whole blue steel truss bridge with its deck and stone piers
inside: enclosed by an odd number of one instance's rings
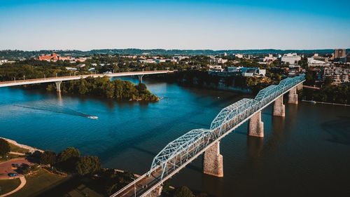
[[[274,116],[285,116],[283,95],[289,92],[288,103],[297,104],[297,89],[302,88],[304,74],[283,79],[279,85],[271,85],[260,90],[254,99],[244,98],[220,111],[211,122],[209,129],[195,129],[167,144],[153,158],[151,169],[134,180],[116,196],[159,196],[162,183],[170,179],[188,163],[204,153],[204,173],[223,177],[223,156],[220,154],[220,140],[249,121],[248,135],[264,136],[261,111],[274,102]]]

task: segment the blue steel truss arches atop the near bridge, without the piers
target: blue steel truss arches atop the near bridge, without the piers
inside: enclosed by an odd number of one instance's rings
[[[278,85],[271,85],[260,90],[254,99],[244,98],[225,107],[211,122],[210,129],[191,130],[167,144],[153,158],[151,169],[147,173],[148,176],[161,170],[162,175],[160,179],[163,179],[164,175],[168,175],[170,172],[183,167],[183,163],[186,163],[188,159],[193,158],[193,156],[207,148],[209,144],[218,140],[225,133],[230,132],[232,128],[242,123],[256,111],[266,107],[269,102],[286,93],[290,88],[302,83],[304,79],[304,74],[283,79]]]

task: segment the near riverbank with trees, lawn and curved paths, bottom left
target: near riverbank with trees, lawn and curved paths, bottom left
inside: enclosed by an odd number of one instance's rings
[[[6,191],[6,193],[0,191],[0,195],[3,196],[72,196],[72,193],[82,193],[82,196],[102,197],[109,196],[132,182],[132,178],[139,177],[124,170],[101,168],[99,158],[82,156],[78,149],[73,147],[56,154],[19,144],[15,140],[1,138],[17,149],[27,150],[27,154],[21,155],[21,158],[7,159],[0,163],[0,179],[6,179],[0,182],[1,189]],[[14,168],[14,164],[18,167]],[[62,176],[57,170],[64,170],[66,175]],[[9,177],[8,173],[17,175]],[[13,186],[11,179],[18,178],[21,184]],[[73,194],[73,196],[79,195]]]

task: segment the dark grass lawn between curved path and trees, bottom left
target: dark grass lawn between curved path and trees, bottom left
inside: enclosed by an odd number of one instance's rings
[[[67,177],[52,175],[51,173],[41,169],[35,175],[26,177],[27,184],[18,192],[13,193],[10,197],[27,197],[36,196],[45,190],[51,189],[60,182],[63,182]]]

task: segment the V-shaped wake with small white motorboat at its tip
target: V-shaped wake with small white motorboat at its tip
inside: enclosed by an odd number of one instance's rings
[[[50,111],[53,113],[58,113],[58,114],[67,114],[71,116],[82,116],[85,118],[90,118],[90,119],[98,119],[98,116],[92,116],[90,114],[84,114],[79,111],[75,111],[73,109],[69,109],[68,107],[62,107],[57,104],[51,104],[49,102],[38,102],[35,104],[36,106],[28,106],[28,105],[23,105],[23,104],[13,104],[15,107],[22,107],[26,109],[34,109],[34,110],[40,110],[40,111]]]

